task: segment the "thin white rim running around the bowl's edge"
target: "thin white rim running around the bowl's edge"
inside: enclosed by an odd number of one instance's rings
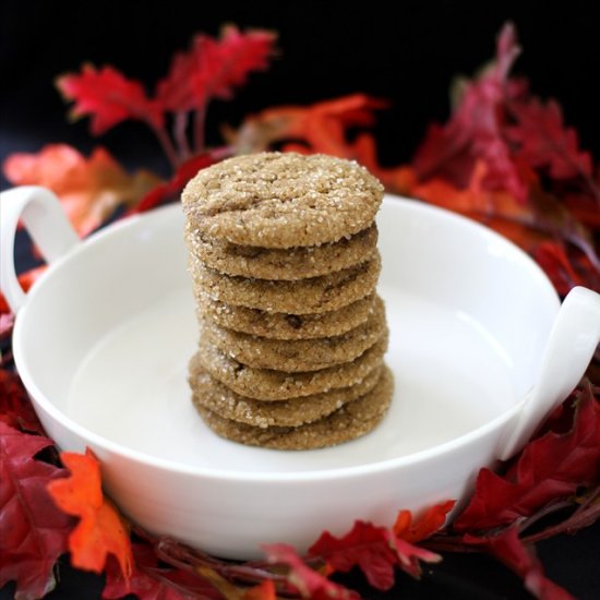
[[[425,215],[434,215],[439,218],[445,218],[449,221],[454,221],[455,226],[470,228],[473,231],[477,231],[480,235],[488,236],[489,239],[494,240],[495,242],[501,243],[504,248],[509,249],[514,255],[519,256],[524,268],[529,268],[532,274],[536,274],[537,278],[547,287],[547,291],[551,291],[551,297],[555,300],[556,310],[560,305],[560,298],[556,293],[554,287],[550,283],[550,279],[543,273],[541,267],[520,248],[513,243],[507,238],[501,236],[496,231],[485,227],[484,225],[470,219],[466,216],[453,213],[446,208],[439,206],[433,206],[421,202],[415,199],[407,199],[403,196],[395,196],[392,194],[386,194],[384,197],[385,203],[401,203],[405,207],[409,209],[419,211]],[[65,255],[61,256],[59,260],[49,265],[49,268],[43,276],[32,286],[32,289],[27,293],[25,304],[19,311],[15,316],[14,332],[13,332],[13,353],[14,361],[17,368],[17,372],[23,381],[23,384],[32,398],[34,408],[36,412],[41,411],[40,419],[44,421],[45,416],[53,420],[56,425],[61,429],[70,431],[79,440],[83,441],[86,446],[91,446],[95,452],[96,448],[104,453],[109,453],[113,457],[121,457],[133,463],[136,463],[141,466],[159,469],[163,471],[168,471],[170,473],[178,473],[187,477],[192,477],[196,479],[214,479],[218,481],[243,481],[247,483],[272,483],[272,482],[302,482],[302,481],[322,481],[322,480],[341,480],[346,478],[363,477],[370,475],[376,475],[385,471],[393,471],[404,467],[408,467],[418,463],[427,463],[439,456],[448,454],[449,452],[460,449],[466,447],[471,443],[477,442],[479,439],[491,433],[496,428],[502,427],[512,417],[514,417],[523,407],[525,403],[526,395],[523,395],[520,398],[516,398],[513,406],[506,408],[501,413],[496,415],[493,419],[484,422],[483,424],[457,436],[443,442],[442,444],[436,444],[434,446],[420,449],[418,452],[386,458],[383,460],[377,460],[375,463],[367,463],[362,465],[356,465],[350,467],[336,467],[328,468],[323,470],[301,470],[301,471],[242,471],[242,470],[219,470],[205,466],[194,466],[187,465],[177,460],[161,458],[154,456],[152,454],[137,451],[131,447],[128,447],[119,442],[113,442],[93,430],[81,425],[68,415],[61,411],[38,387],[33,376],[29,373],[29,370],[26,365],[26,360],[24,358],[25,349],[22,343],[22,328],[23,323],[26,322],[26,315],[32,302],[35,302],[35,298],[44,289],[45,281],[49,280],[52,274],[59,271],[62,265],[74,260],[77,254],[81,254],[83,249],[92,248],[97,243],[101,243],[105,238],[110,238],[111,236],[118,233],[122,229],[130,229],[140,224],[148,223],[149,220],[159,221],[165,213],[175,213],[179,206],[177,204],[169,204],[155,208],[148,213],[133,215],[127,219],[111,224],[97,232],[93,233],[89,238],[82,240],[81,243],[72,248]]]

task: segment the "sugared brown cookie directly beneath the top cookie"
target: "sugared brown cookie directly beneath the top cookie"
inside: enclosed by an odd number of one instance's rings
[[[220,273],[293,280],[335,273],[373,257],[377,227],[373,224],[334,243],[283,250],[209,240],[187,224],[185,241],[195,259]]]

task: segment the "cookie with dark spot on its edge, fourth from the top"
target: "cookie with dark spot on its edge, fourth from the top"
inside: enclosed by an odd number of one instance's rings
[[[202,295],[197,313],[199,319],[206,316],[235,332],[271,339],[313,339],[341,335],[358,327],[369,319],[376,298],[371,293],[335,311],[300,315],[233,307]]]

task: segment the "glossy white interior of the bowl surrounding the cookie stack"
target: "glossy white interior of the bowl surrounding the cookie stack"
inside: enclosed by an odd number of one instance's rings
[[[195,413],[197,341],[178,206],[121,223],[56,263],[15,328],[24,382],[49,419],[148,459],[219,472],[371,465],[441,446],[509,410],[535,382],[559,299],[540,269],[490,230],[386,197],[379,217],[395,396],[361,440],[303,453],[217,437]],[[57,440],[59,444],[72,445]]]

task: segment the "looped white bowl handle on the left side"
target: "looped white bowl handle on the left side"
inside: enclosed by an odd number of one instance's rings
[[[13,188],[0,194],[0,289],[13,313],[25,303],[14,266],[14,237],[19,219],[51,263],[65,254],[80,239],[57,196],[38,185]]]

